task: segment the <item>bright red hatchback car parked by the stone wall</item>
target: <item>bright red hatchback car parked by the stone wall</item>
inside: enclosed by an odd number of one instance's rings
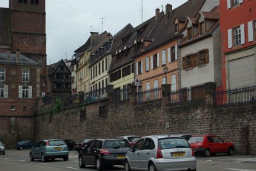
[[[216,153],[234,154],[234,143],[225,142],[216,135],[195,136],[188,142],[195,154],[203,154],[205,157],[214,156]]]

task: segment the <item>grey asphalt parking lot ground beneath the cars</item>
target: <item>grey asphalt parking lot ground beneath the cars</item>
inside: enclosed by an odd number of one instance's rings
[[[0,155],[0,170],[2,171],[67,171],[67,170],[94,170],[96,167],[86,166],[86,168],[79,168],[78,153],[70,151],[68,161],[62,159],[48,161],[42,163],[40,160],[30,161],[29,150],[17,151],[6,150],[5,155]],[[209,158],[196,156],[198,171],[220,171],[220,170],[235,170],[235,171],[256,171],[256,156],[242,156],[242,155],[216,155]],[[111,170],[124,170],[124,167],[117,166]],[[159,170],[160,171],[160,170]]]

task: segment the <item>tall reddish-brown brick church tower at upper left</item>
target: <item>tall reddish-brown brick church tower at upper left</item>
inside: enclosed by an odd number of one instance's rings
[[[41,64],[40,93],[46,89],[45,0],[9,0],[12,52]]]

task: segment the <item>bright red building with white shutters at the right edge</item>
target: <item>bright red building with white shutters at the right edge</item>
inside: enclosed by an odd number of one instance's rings
[[[256,84],[256,3],[221,0],[223,88]]]

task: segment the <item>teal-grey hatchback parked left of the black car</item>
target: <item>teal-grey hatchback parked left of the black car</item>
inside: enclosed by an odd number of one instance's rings
[[[32,147],[29,152],[30,161],[41,159],[45,162],[49,159],[63,158],[64,161],[68,160],[68,146],[63,140],[40,140]]]

